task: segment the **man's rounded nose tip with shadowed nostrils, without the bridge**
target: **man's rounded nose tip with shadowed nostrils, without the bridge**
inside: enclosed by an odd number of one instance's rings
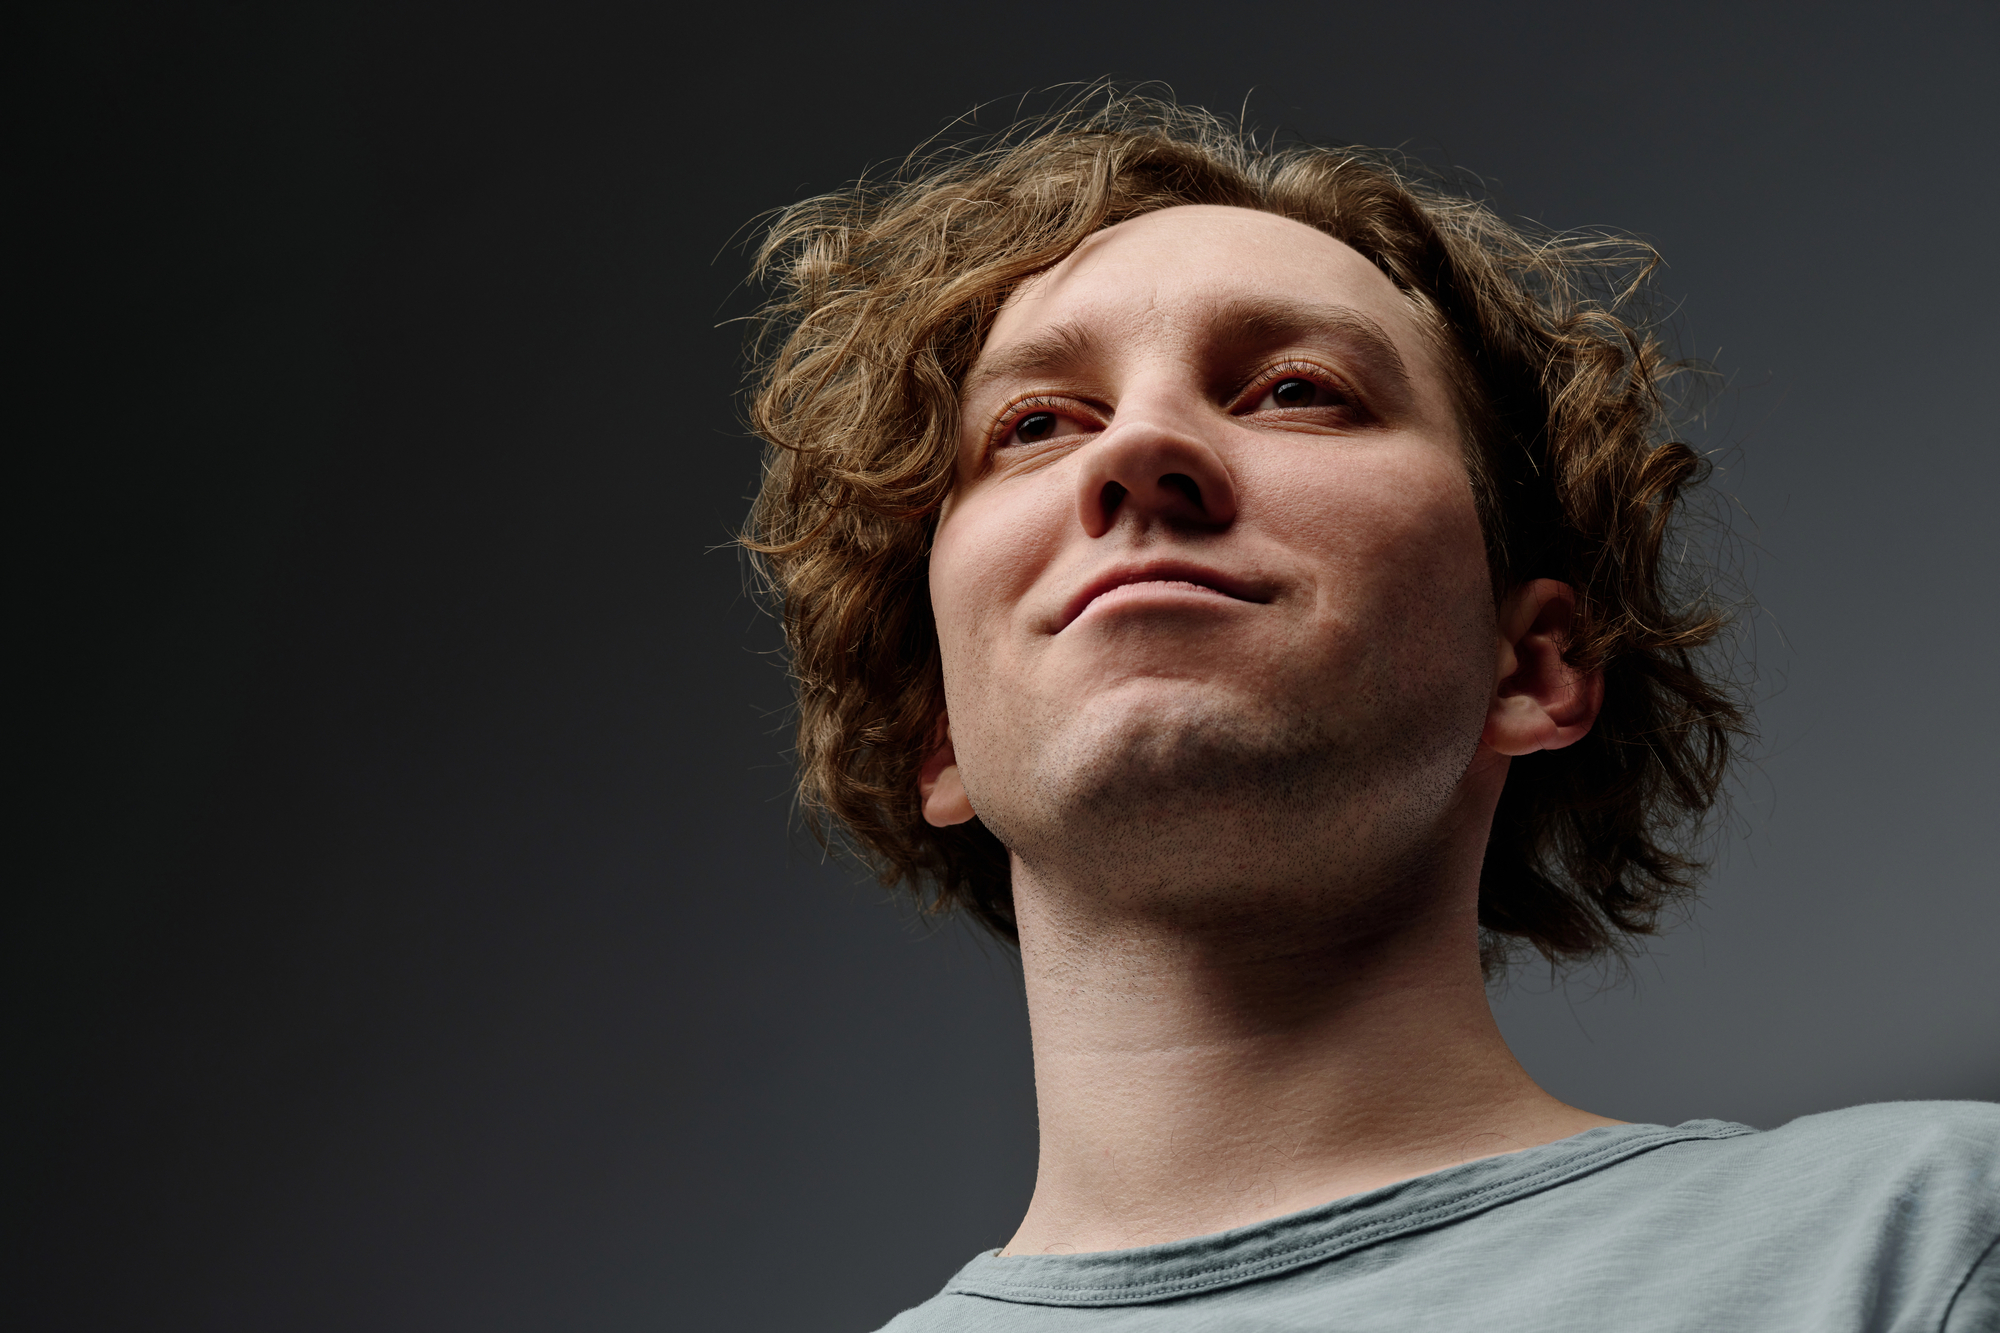
[[[1146,418],[1116,422],[1084,450],[1076,516],[1090,536],[1104,536],[1120,518],[1226,528],[1236,520],[1236,484],[1194,432]]]

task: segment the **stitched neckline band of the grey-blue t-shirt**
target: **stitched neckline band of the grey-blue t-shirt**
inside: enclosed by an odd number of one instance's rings
[[[1308,1263],[1324,1263],[1338,1255],[1348,1255],[1370,1245],[1380,1245],[1384,1241],[1396,1239],[1398,1235],[1410,1235],[1414,1231],[1428,1231],[1440,1227],[1448,1221],[1468,1217],[1472,1213],[1482,1213],[1488,1209],[1514,1203],[1534,1193],[1544,1193],[1580,1175],[1592,1171],[1602,1171],[1604,1167],[1616,1165],[1640,1153],[1650,1153],[1670,1143],[1694,1143],[1702,1139],[1738,1139],[1756,1133],[1754,1129],[1726,1129],[1726,1131],[1704,1131],[1704,1133],[1676,1133],[1662,1131],[1646,1135],[1644,1139],[1626,1139],[1620,1143],[1610,1143],[1600,1149],[1592,1149],[1582,1157],[1574,1157],[1564,1163],[1552,1163],[1530,1171],[1528,1175],[1514,1177],[1510,1181],[1498,1181],[1492,1185],[1480,1185],[1452,1199],[1424,1205],[1412,1213],[1396,1217],[1392,1221],[1368,1223],[1356,1227],[1352,1233],[1318,1237],[1308,1241],[1294,1241],[1284,1249],[1262,1253],[1250,1259],[1236,1259],[1220,1267],[1206,1269],[1194,1277],[1180,1279],[1150,1279],[1132,1283],[1106,1283],[1092,1285],[1086,1289],[1076,1287],[1050,1287],[1046,1283],[994,1283],[990,1289],[982,1289],[978,1279],[972,1283],[946,1285],[950,1295],[978,1295],[996,1301],[1010,1301],[1014,1305],[1138,1305],[1144,1301],[1192,1295],[1204,1289],[1234,1287],[1258,1277],[1268,1277],[1272,1271],[1284,1271],[1294,1267],[1304,1267]],[[1550,1179],[1554,1177],[1554,1179]],[[1324,1251],[1324,1253],[1320,1253]],[[1038,1299],[1040,1297],[1040,1299]]]

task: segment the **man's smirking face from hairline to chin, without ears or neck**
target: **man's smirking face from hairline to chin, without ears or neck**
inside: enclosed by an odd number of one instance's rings
[[[1416,855],[1494,689],[1416,314],[1244,208],[1124,222],[1006,302],[930,594],[972,809],[1030,867],[1154,893]]]

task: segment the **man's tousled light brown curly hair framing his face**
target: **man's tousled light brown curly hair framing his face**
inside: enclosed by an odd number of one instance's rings
[[[1018,939],[1006,849],[976,819],[924,823],[916,781],[944,713],[926,564],[958,390],[1014,288],[1178,204],[1272,212],[1374,262],[1444,352],[1496,600],[1542,576],[1576,590],[1566,658],[1604,673],[1604,709],[1510,769],[1480,875],[1488,975],[1522,945],[1582,961],[1656,931],[1694,891],[1694,835],[1746,735],[1706,652],[1726,610],[1668,556],[1708,472],[1670,432],[1682,364],[1620,314],[1658,256],[1532,234],[1390,154],[1260,146],[1118,92],[786,208],[756,252],[766,462],[742,544],[780,606],[814,831]]]

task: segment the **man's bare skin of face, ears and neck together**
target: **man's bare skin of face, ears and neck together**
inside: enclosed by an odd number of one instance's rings
[[[1608,1125],[1508,1053],[1478,867],[1582,737],[1572,594],[1496,608],[1408,300],[1242,208],[1100,232],[966,378],[936,825],[1012,853],[1042,1153],[1008,1253],[1204,1235]]]

